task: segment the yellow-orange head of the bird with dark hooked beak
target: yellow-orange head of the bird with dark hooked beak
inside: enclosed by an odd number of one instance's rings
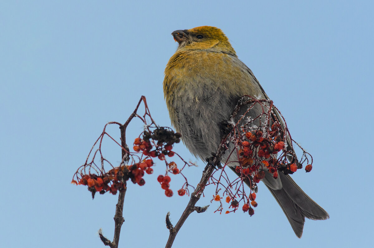
[[[216,27],[202,26],[171,33],[179,43],[178,50],[210,50],[236,55],[226,35]]]

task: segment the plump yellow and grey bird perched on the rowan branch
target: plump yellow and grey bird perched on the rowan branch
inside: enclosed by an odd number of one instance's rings
[[[166,106],[184,145],[191,154],[205,160],[217,151],[223,137],[221,125],[228,120],[240,97],[269,97],[252,70],[239,60],[221,29],[201,26],[171,34],[178,42],[178,48],[165,68]],[[248,114],[257,116],[259,111],[260,108],[254,108]],[[283,123],[279,114],[276,116]],[[228,159],[238,160],[237,157]],[[235,169],[234,166],[230,168]],[[266,175],[261,181],[281,206],[298,238],[303,233],[305,218],[329,218],[329,214],[304,193],[290,175],[281,171],[277,179],[268,176],[269,172]]]

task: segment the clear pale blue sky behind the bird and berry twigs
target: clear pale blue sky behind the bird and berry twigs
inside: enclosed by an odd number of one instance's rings
[[[141,95],[159,125],[171,125],[163,70],[170,35],[221,28],[314,158],[293,178],[330,214],[306,220],[298,239],[259,186],[255,215],[192,214],[174,247],[370,247],[374,4],[371,1],[2,1],[0,3],[0,237],[4,247],[103,247],[113,238],[117,196],[94,200],[70,184],[108,121],[125,122]],[[128,140],[141,131],[133,124]],[[111,134],[119,137],[117,127]],[[112,149],[113,148],[113,149]],[[196,159],[178,145],[184,158]],[[108,144],[106,157],[120,160]],[[188,169],[197,184],[204,163]],[[364,167],[364,168],[363,168]],[[120,247],[164,247],[188,197],[167,198],[155,167],[129,184]],[[172,189],[181,181],[172,179]],[[214,193],[205,190],[199,205]]]

